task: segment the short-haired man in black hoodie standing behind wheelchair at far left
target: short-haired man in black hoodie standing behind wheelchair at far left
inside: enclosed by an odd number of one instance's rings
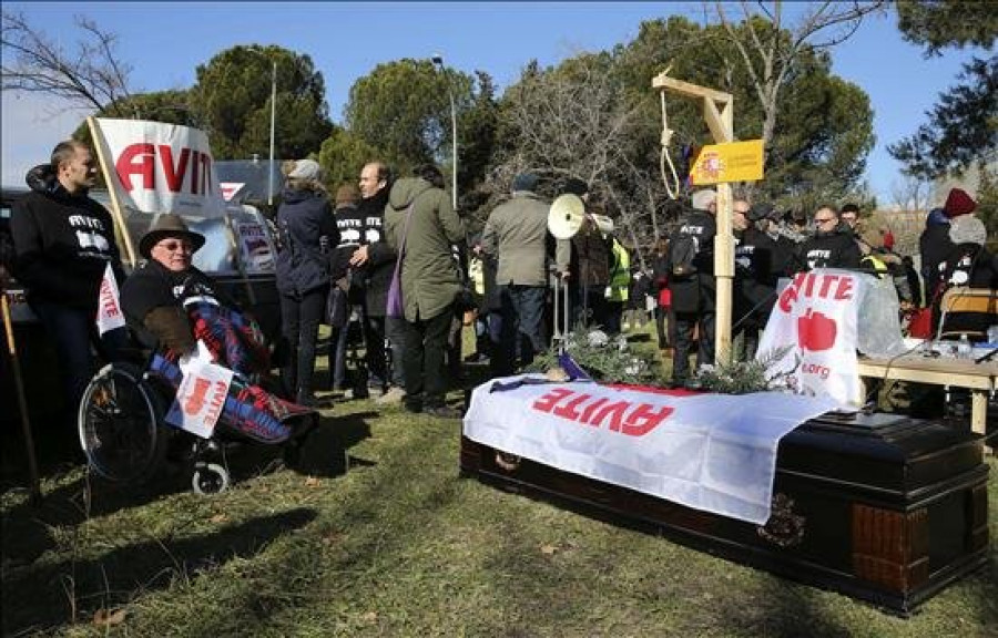
[[[60,142],[50,164],[28,173],[32,192],[14,204],[10,223],[14,276],[28,288],[28,302],[55,344],[71,426],[93,372],[90,344],[108,264],[124,280],[111,214],[88,196],[95,181],[90,148],[74,140]],[[98,346],[113,358],[124,339],[122,330],[112,330]]]

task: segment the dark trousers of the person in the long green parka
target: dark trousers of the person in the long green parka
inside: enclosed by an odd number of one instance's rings
[[[436,317],[406,321],[406,404],[410,408],[439,408],[447,390],[444,360],[447,338],[454,321],[454,309],[446,308]]]

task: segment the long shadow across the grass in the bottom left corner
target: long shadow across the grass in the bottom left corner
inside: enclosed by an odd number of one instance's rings
[[[164,589],[233,557],[251,558],[316,516],[310,508],[291,510],[193,538],[153,538],[96,558],[4,569],[3,635],[85,621],[95,609],[128,603],[136,590]]]

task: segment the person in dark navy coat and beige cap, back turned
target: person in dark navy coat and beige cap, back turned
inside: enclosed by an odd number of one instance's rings
[[[282,378],[299,404],[315,405],[315,343],[329,294],[329,251],[339,244],[339,230],[319,165],[298,160],[283,169],[286,186],[277,209],[277,291],[288,360]]]

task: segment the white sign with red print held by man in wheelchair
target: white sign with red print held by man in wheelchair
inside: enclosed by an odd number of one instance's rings
[[[228,395],[232,370],[212,363],[203,344],[198,341],[197,346],[198,354],[181,366],[184,378],[165,420],[181,430],[210,439]]]

